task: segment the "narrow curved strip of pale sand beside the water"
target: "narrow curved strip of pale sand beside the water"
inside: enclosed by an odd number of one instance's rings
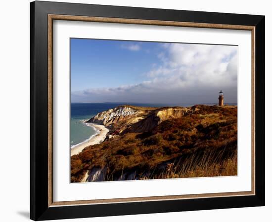
[[[75,146],[74,148],[71,148],[71,152],[70,152],[71,156],[80,153],[84,148],[86,148],[88,146],[99,144],[105,140],[106,135],[109,132],[109,130],[105,126],[93,124],[93,123],[88,123],[88,124],[90,124],[95,129],[97,129],[99,131],[99,134],[92,137],[90,140],[88,140],[84,143],[81,143],[81,144]]]

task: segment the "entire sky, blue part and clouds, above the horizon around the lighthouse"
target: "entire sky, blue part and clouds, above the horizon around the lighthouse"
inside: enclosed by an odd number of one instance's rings
[[[71,102],[237,103],[238,46],[70,41]]]

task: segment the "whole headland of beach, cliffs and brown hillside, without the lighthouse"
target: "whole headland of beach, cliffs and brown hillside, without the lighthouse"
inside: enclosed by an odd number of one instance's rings
[[[71,182],[237,175],[237,106],[118,106],[71,149]]]

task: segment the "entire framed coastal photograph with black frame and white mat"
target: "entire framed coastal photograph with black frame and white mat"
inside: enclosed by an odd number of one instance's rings
[[[265,205],[265,16],[30,13],[32,220]]]

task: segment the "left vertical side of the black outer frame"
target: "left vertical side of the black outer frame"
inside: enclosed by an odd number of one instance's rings
[[[41,220],[48,210],[47,50],[43,51],[47,49],[47,28],[43,29],[47,27],[47,12],[44,3],[30,2],[30,219],[34,221]]]

